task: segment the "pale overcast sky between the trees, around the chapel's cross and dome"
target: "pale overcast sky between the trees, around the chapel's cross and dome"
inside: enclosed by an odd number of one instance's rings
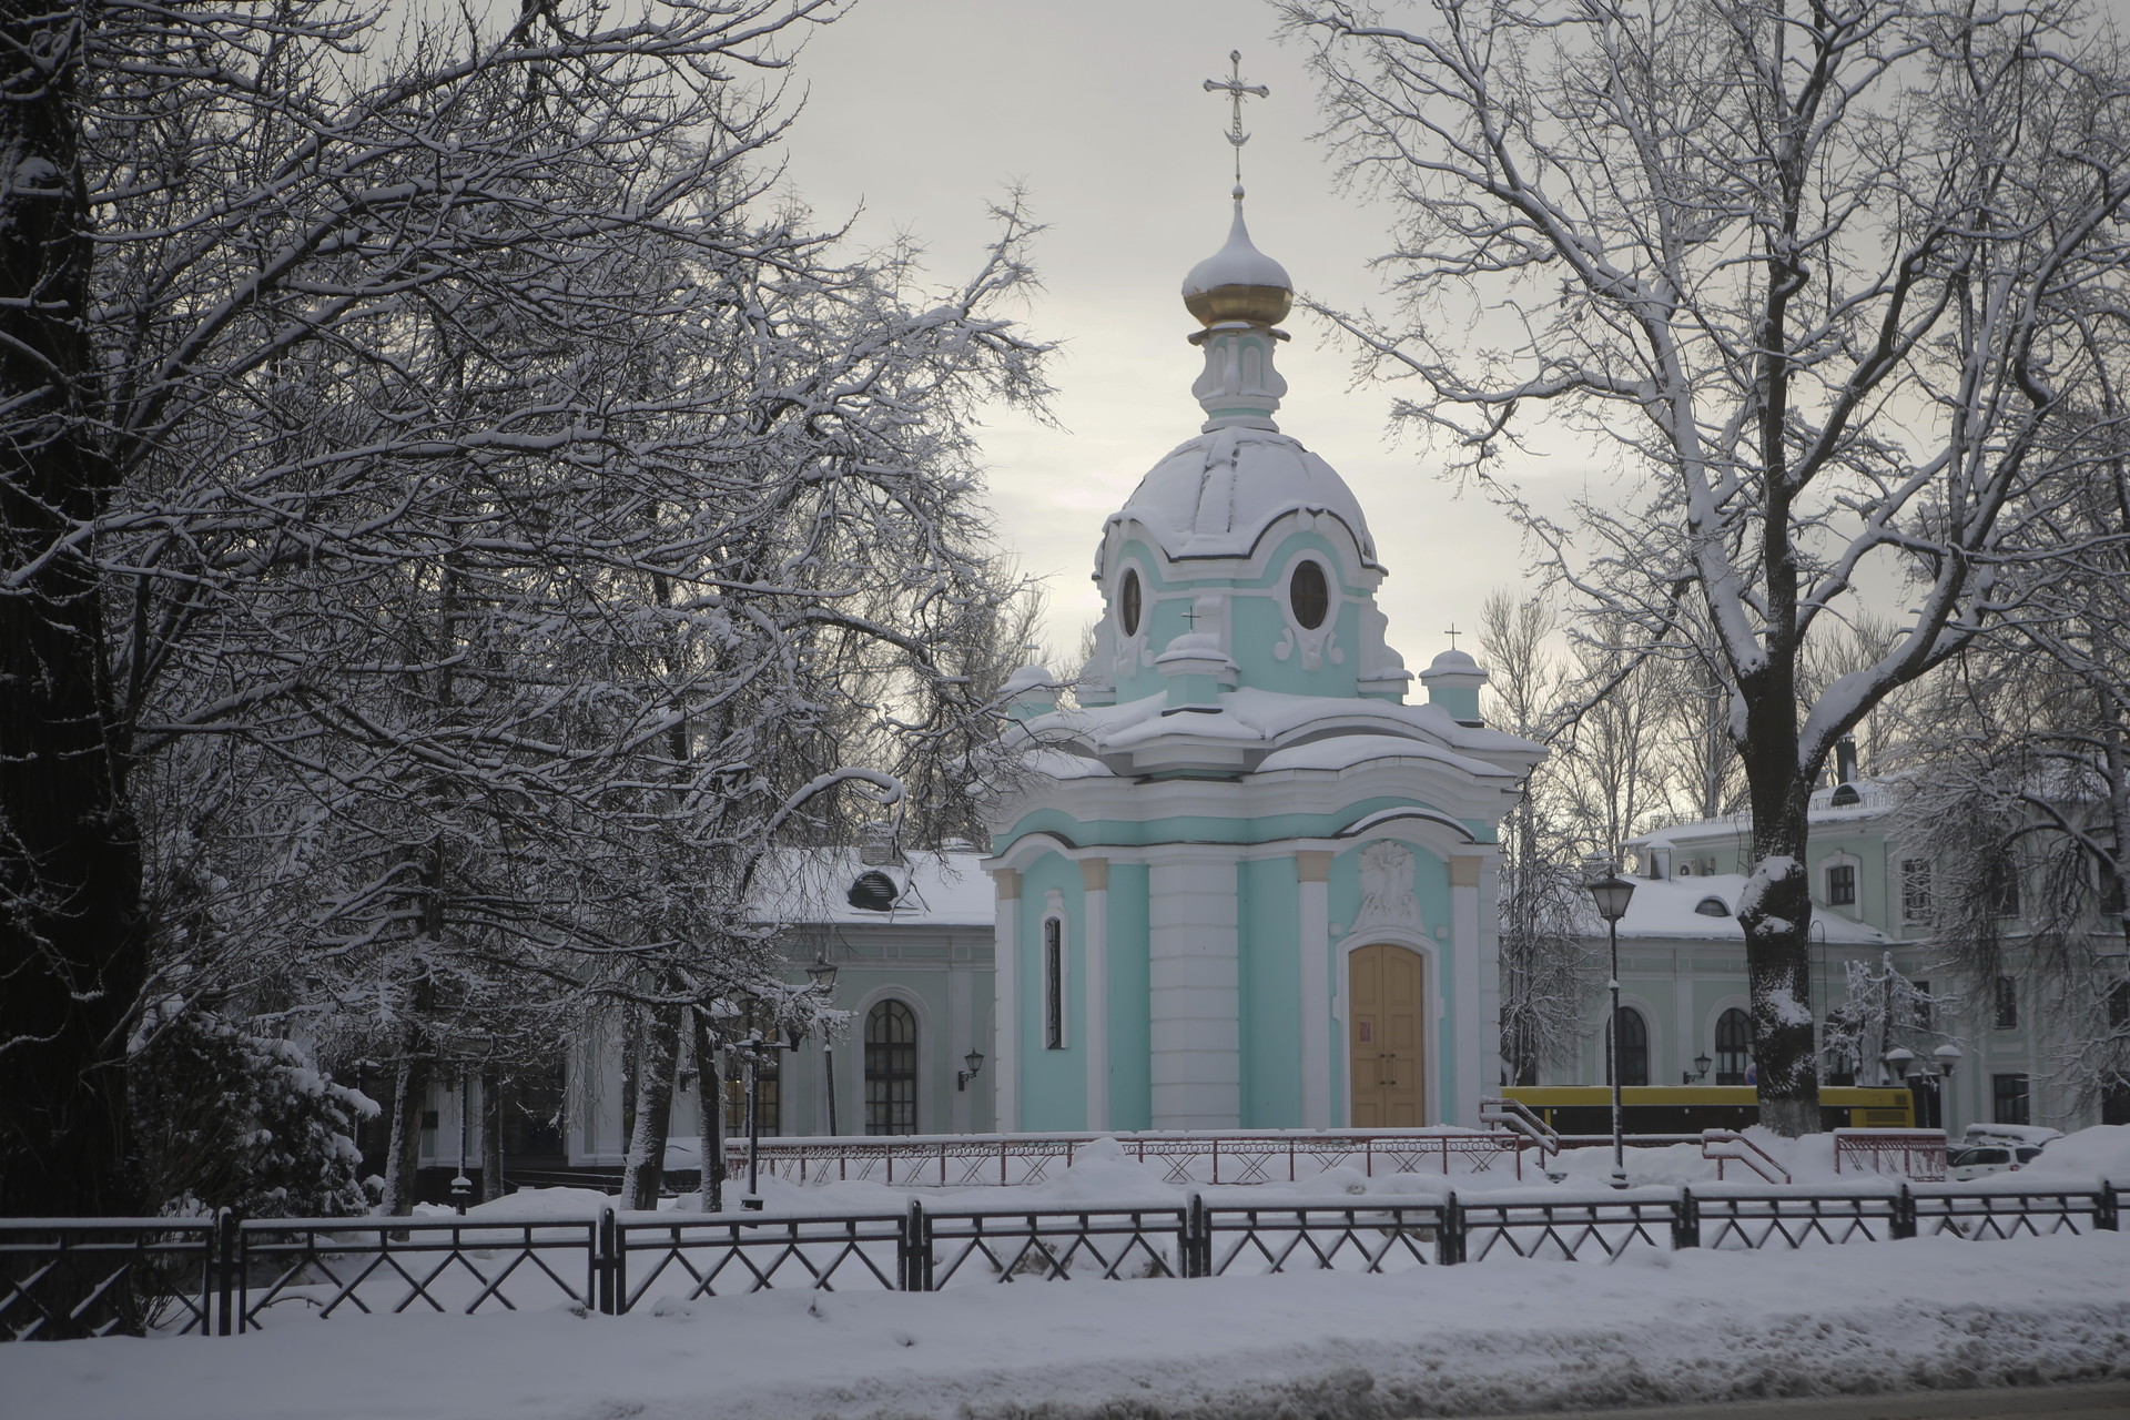
[[[1052,379],[1061,428],[1001,417],[986,434],[1001,541],[1050,588],[1048,645],[1071,651],[1099,611],[1088,581],[1101,519],[1140,475],[1197,432],[1197,328],[1184,273],[1227,236],[1225,96],[1206,79],[1242,51],[1250,100],[1250,232],[1299,290],[1353,307],[1376,296],[1387,215],[1333,192],[1299,45],[1276,43],[1263,0],[865,0],[814,34],[786,162],[818,217],[863,204],[858,236],[912,232],[939,277],[973,268],[986,204],[1010,183],[1050,224],[1046,290],[1027,324],[1065,343]],[[1523,581],[1517,530],[1438,462],[1387,443],[1387,387],[1350,387],[1350,356],[1306,315],[1289,321],[1280,426],[1327,458],[1367,511],[1391,577],[1391,641],[1414,668],[1470,628],[1489,588]],[[1580,449],[1544,449],[1527,477],[1580,483]],[[1549,498],[1551,502],[1551,498]],[[1470,645],[1470,643],[1465,643]],[[1061,666],[1071,668],[1071,666]]]

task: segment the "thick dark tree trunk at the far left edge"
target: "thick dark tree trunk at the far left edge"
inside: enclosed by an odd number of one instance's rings
[[[128,1213],[126,1022],[147,975],[89,549],[94,441],[75,6],[0,6],[0,1213]],[[36,72],[30,66],[36,66]],[[55,551],[58,549],[58,551]]]

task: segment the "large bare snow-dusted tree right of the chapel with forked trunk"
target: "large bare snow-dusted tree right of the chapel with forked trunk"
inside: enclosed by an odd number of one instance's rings
[[[1817,1128],[1808,796],[2006,609],[2006,560],[2066,556],[2036,498],[2079,456],[2081,321],[2121,292],[2119,57],[2053,0],[1287,13],[1333,143],[1402,204],[1406,319],[1333,317],[1416,385],[1397,415],[1482,475],[1534,413],[1610,441],[1623,488],[1572,528],[1495,485],[1642,645],[1706,615],[1753,820],[1762,1118]],[[1497,334],[1465,341],[1480,311]],[[1815,628],[1887,583],[1900,634],[1800,707]]]

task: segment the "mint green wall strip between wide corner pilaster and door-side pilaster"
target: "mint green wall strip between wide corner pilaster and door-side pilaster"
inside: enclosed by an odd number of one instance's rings
[[[1242,1126],[1301,1126],[1301,888],[1295,860],[1238,864]]]

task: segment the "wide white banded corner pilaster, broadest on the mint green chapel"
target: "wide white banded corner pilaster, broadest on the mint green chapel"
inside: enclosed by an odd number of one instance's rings
[[[1148,871],[1154,1128],[1242,1122],[1235,862],[1172,858]]]

